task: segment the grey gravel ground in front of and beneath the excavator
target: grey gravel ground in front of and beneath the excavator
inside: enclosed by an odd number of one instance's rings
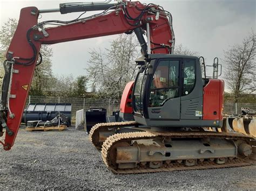
[[[2,148],[1,148],[2,149]],[[0,190],[27,189],[256,189],[256,165],[115,175],[82,130],[21,128],[10,151],[0,150]]]

